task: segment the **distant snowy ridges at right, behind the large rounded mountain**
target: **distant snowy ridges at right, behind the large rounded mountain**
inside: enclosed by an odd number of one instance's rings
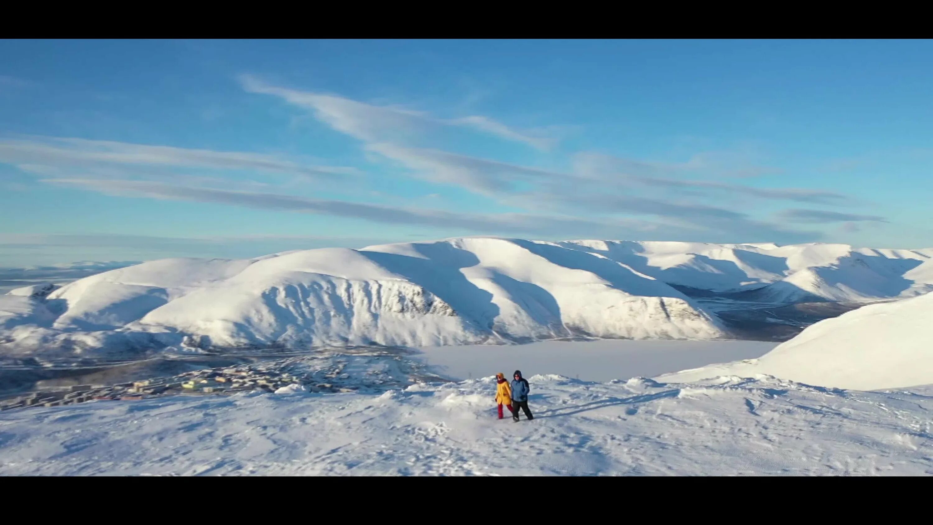
[[[665,283],[736,298],[794,303],[868,301],[933,291],[933,249],[879,250],[848,244],[570,241]]]

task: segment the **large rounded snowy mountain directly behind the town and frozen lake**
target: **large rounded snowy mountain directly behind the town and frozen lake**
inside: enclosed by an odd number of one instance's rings
[[[0,303],[0,350],[125,352],[183,338],[229,348],[723,335],[688,297],[624,264],[497,238],[164,259],[47,297],[25,292]]]

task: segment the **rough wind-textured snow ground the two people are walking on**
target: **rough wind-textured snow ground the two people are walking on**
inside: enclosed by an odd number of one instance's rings
[[[383,394],[236,394],[0,413],[0,475],[929,475],[933,386],[856,392],[767,376],[532,376]]]

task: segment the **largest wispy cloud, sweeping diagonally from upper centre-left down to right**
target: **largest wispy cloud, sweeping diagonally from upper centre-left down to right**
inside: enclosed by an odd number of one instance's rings
[[[481,159],[439,149],[400,145],[400,137],[425,134],[442,125],[466,126],[486,131],[511,141],[547,148],[547,139],[515,131],[490,117],[441,119],[424,112],[396,107],[364,104],[335,95],[291,90],[266,83],[254,76],[242,76],[244,89],[277,96],[289,104],[304,107],[319,120],[337,131],[354,136],[367,144],[366,151],[394,160],[423,180],[463,187],[474,193],[520,203],[522,208],[538,205],[571,214],[593,217],[599,214],[652,215],[678,226],[710,229],[754,228],[787,231],[756,221],[747,214],[704,202],[672,201],[649,198],[639,193],[652,187],[691,193],[694,200],[715,200],[733,195],[765,200],[792,200],[823,204],[842,204],[842,194],[801,188],[759,188],[728,184],[717,180],[689,180],[685,173],[735,177],[774,173],[776,170],[752,162],[744,151],[698,153],[686,162],[661,163],[582,153],[574,159],[569,173]],[[587,220],[595,219],[590,218]],[[731,221],[732,224],[727,224]],[[805,233],[801,233],[805,234]]]

